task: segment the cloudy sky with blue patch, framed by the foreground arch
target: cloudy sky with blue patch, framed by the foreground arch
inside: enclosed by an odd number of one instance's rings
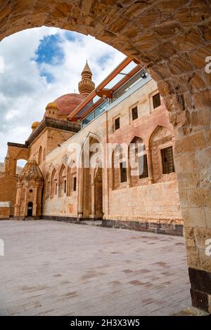
[[[0,43],[0,161],[6,143],[24,143],[34,121],[41,121],[47,103],[78,93],[86,59],[99,84],[124,55],[90,36],[61,29],[27,29]]]

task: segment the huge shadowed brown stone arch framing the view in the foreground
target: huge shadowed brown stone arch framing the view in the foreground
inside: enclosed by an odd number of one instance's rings
[[[206,310],[211,308],[206,289],[211,268],[200,237],[202,232],[204,242],[211,237],[211,79],[209,67],[205,70],[211,53],[210,20],[210,2],[200,0],[18,0],[2,8],[0,29],[0,39],[42,25],[91,34],[148,68],[174,126],[191,294],[193,304]]]

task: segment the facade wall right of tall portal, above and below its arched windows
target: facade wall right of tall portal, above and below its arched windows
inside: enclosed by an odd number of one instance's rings
[[[152,97],[157,92],[157,85],[152,80],[108,112],[109,143],[129,144],[137,136],[143,140],[146,150],[151,153],[150,141],[156,128],[165,127],[172,131],[162,100],[160,107],[153,109]],[[134,106],[138,107],[139,119],[132,121],[131,111]],[[119,116],[120,129],[114,131],[114,120]],[[152,167],[154,166],[157,164],[153,163]],[[149,179],[142,179],[136,183],[136,187],[129,187],[128,182],[122,183],[120,190],[110,187],[109,211],[104,218],[183,224],[177,176],[163,175],[161,181],[155,183]]]

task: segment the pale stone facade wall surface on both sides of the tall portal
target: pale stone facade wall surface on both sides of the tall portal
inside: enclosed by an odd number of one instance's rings
[[[106,136],[108,143],[129,144],[134,136],[143,138],[143,143],[149,145],[151,136],[158,126],[164,126],[172,131],[168,121],[167,110],[163,104],[155,110],[152,107],[152,95],[158,91],[155,81],[151,80],[138,91],[129,95],[120,104],[113,107],[107,113],[85,126],[82,131],[72,136],[61,147],[53,150],[46,157],[46,172],[52,173],[56,169],[59,181],[60,168],[67,161],[68,147],[72,143],[83,145],[87,136],[92,133],[106,147]],[[161,100],[162,102],[162,100]],[[134,105],[138,106],[139,118],[131,119],[131,110]],[[120,115],[120,129],[113,131],[113,119]],[[173,143],[173,142],[172,142]],[[105,154],[106,155],[106,154]],[[68,167],[68,166],[67,166]],[[179,206],[179,194],[177,187],[177,176],[162,176],[162,182],[151,183],[142,180],[141,185],[129,187],[124,184],[120,190],[112,190],[109,178],[110,169],[103,169],[103,213],[105,219],[131,220],[142,222],[163,222],[182,224]],[[78,172],[77,172],[78,174]],[[79,180],[77,176],[77,180]],[[91,183],[85,176],[83,194],[84,210],[83,217],[89,218],[91,204]],[[87,201],[89,200],[90,203]],[[125,203],[127,200],[127,203]],[[44,216],[78,216],[78,194],[71,192],[67,197],[54,196],[44,199]]]

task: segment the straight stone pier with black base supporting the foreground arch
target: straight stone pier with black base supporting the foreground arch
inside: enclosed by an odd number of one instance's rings
[[[211,129],[175,144],[193,306],[211,312]],[[210,246],[210,247],[209,247]]]

